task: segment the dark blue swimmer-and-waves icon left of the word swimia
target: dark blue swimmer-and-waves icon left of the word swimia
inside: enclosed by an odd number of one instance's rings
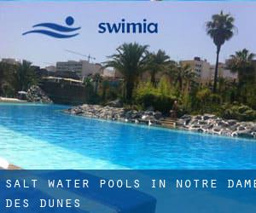
[[[38,29],[38,30],[32,30],[28,32],[22,33],[23,36],[26,34],[31,34],[31,33],[40,33],[44,34],[49,37],[57,37],[57,38],[69,38],[69,37],[75,37],[78,36],[79,33],[75,34],[69,34],[69,32],[76,32],[81,27],[68,27],[68,26],[73,26],[74,19],[72,16],[68,16],[66,19],[66,24],[67,26],[61,26],[55,23],[40,23],[38,25],[34,25],[32,27],[43,27],[44,29]],[[52,30],[52,31],[51,31]]]

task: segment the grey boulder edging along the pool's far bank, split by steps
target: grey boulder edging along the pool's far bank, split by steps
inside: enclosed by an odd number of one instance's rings
[[[160,125],[163,120],[161,112],[126,110],[123,107],[102,107],[99,105],[84,104],[72,107],[65,112],[89,118],[102,118],[135,124]],[[256,138],[255,122],[238,122],[226,120],[215,115],[184,115],[177,119],[177,129],[192,130],[214,135],[238,136]]]

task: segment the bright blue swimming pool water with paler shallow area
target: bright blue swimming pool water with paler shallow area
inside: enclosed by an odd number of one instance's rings
[[[256,141],[0,104],[0,156],[24,169],[256,169]]]

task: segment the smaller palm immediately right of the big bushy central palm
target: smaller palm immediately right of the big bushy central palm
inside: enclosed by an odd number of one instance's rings
[[[148,55],[150,81],[154,86],[156,86],[155,75],[157,72],[165,71],[170,62],[170,57],[161,49],[159,49],[157,53],[150,53]]]

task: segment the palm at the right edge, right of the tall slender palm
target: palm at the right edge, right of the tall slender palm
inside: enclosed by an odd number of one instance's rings
[[[242,49],[241,51],[237,51],[235,55],[230,55],[228,66],[231,72],[237,73],[239,86],[255,80],[254,57],[255,55],[247,49]]]

